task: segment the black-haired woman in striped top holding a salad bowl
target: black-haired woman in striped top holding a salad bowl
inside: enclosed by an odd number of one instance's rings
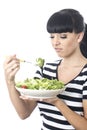
[[[61,60],[46,63],[43,71],[38,70],[35,77],[58,79],[65,84],[65,91],[56,98],[42,101],[20,96],[14,82],[20,63],[13,55],[4,62],[10,99],[22,119],[29,117],[38,105],[41,130],[87,130],[87,34],[84,19],[77,10],[60,10],[49,18],[47,31]]]

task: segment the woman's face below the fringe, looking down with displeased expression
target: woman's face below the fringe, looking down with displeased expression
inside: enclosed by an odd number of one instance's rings
[[[76,33],[52,33],[51,43],[60,57],[69,57],[79,48],[79,34]]]

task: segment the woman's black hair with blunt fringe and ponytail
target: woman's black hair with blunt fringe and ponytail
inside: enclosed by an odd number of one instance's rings
[[[87,57],[87,25],[79,11],[63,9],[55,12],[47,22],[47,31],[49,33],[84,32],[80,49],[82,54]]]

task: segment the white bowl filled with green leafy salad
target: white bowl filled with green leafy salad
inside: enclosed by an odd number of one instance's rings
[[[21,95],[31,98],[52,98],[65,90],[64,84],[57,79],[26,78],[15,83]]]

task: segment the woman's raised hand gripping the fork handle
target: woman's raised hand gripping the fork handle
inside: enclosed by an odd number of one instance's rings
[[[14,83],[15,74],[20,69],[20,61],[16,55],[6,57],[4,61],[4,73],[7,84]]]

